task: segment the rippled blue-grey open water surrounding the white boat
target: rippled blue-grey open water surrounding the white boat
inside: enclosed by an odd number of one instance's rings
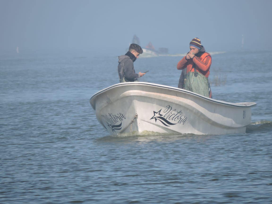
[[[271,204],[271,54],[212,55],[213,97],[257,103],[245,134],[122,137],[89,104],[119,82],[117,55],[0,56],[0,203]],[[177,87],[180,59],[134,65]]]

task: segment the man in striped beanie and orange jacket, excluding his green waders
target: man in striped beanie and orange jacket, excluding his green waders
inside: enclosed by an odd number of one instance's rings
[[[212,57],[211,55],[206,52],[203,45],[201,45],[201,41],[199,38],[194,38],[190,42],[190,52],[187,53],[185,57],[183,57],[177,65],[177,69],[185,69],[181,73],[180,81],[178,88],[183,88],[184,86],[184,76],[188,72],[200,72],[206,78],[208,78],[210,74],[210,67],[212,64]],[[209,84],[209,97],[212,97],[212,92]]]

